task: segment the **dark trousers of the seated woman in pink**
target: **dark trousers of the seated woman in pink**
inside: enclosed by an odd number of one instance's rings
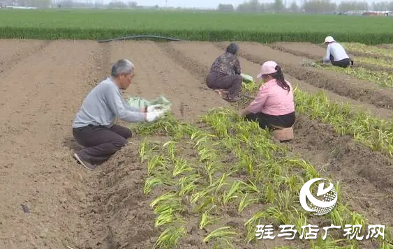
[[[256,114],[248,114],[245,116],[248,121],[255,121],[258,123],[260,128],[269,130],[274,129],[273,126],[279,126],[282,128],[290,128],[295,123],[295,112],[291,112],[289,114],[273,116],[269,114],[265,114],[262,112],[258,112]]]

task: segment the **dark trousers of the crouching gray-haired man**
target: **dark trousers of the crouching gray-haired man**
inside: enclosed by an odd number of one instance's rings
[[[73,128],[75,140],[85,148],[78,151],[77,155],[82,160],[98,165],[112,156],[121,147],[127,144],[127,139],[132,136],[131,130],[123,126],[84,126]]]

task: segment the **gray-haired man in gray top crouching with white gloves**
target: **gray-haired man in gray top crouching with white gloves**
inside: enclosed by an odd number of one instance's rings
[[[122,98],[120,90],[131,84],[133,71],[131,61],[121,59],[114,63],[111,77],[94,87],[75,116],[73,135],[85,148],[74,153],[74,158],[87,169],[95,169],[127,144],[131,130],[115,125],[117,117],[128,122],[151,122],[165,112],[155,106],[131,107]]]

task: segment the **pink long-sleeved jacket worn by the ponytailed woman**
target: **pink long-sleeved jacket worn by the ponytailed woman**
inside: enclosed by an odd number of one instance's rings
[[[280,116],[295,112],[295,103],[293,102],[293,91],[290,82],[290,91],[282,89],[275,79],[269,80],[260,86],[258,96],[249,105],[249,111],[252,113],[262,112],[273,116]]]

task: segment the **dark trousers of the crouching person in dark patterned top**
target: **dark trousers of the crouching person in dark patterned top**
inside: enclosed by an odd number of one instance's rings
[[[206,77],[206,84],[210,89],[228,90],[228,97],[236,97],[242,90],[242,75],[224,75],[210,72]]]

